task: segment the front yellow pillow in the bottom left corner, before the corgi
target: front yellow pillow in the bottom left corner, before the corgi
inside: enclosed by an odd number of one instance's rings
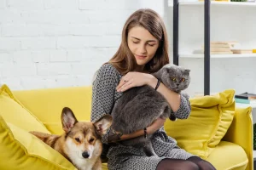
[[[59,152],[0,116],[0,169],[75,170]]]

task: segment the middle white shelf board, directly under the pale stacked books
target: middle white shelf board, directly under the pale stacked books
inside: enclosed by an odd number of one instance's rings
[[[201,59],[204,54],[179,54],[180,58]],[[256,58],[256,54],[211,54],[211,58]]]

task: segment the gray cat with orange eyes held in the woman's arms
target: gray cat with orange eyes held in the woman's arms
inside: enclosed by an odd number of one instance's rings
[[[160,71],[153,73],[153,76],[164,83],[167,88],[177,93],[181,93],[183,89],[189,87],[190,70],[181,66],[167,64]],[[181,94],[189,98],[187,94]],[[111,115],[113,116],[112,128],[121,133],[133,133],[148,127],[157,118],[165,117],[172,121],[176,120],[172,110],[166,99],[154,88],[149,86],[130,88],[125,91],[119,102],[114,105]],[[154,156],[154,149],[150,142],[148,134],[147,138],[143,136],[119,141],[124,145],[132,145],[142,148],[147,156]]]

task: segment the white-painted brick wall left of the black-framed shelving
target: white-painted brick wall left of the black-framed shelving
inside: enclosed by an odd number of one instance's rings
[[[11,89],[90,85],[119,47],[127,17],[166,0],[0,0],[0,84]],[[167,24],[166,24],[167,25]]]

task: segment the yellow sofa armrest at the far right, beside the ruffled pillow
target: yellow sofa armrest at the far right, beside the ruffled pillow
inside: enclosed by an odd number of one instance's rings
[[[247,170],[253,169],[253,117],[252,108],[236,107],[233,122],[225,134],[224,141],[239,144],[247,153]]]

